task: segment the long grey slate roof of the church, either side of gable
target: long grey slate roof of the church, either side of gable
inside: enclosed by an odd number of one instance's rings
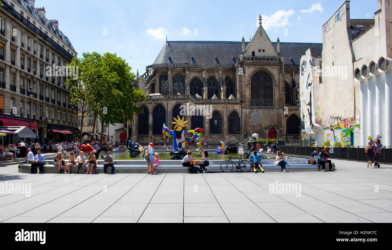
[[[245,48],[249,42],[245,42]],[[272,43],[276,49],[276,42]],[[322,43],[280,43],[280,54],[285,57],[285,64],[299,64],[299,59],[310,46],[314,56],[321,56]],[[154,64],[158,63],[223,63],[232,64],[233,56],[241,54],[240,41],[167,41],[163,45]],[[169,61],[169,56],[171,61]],[[192,61],[192,56],[194,61]],[[217,62],[215,57],[218,58]],[[293,61],[290,62],[290,58]]]

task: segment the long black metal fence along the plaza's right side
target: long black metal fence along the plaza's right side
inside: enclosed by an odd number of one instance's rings
[[[316,147],[299,146],[299,145],[279,145],[280,151],[287,155],[309,156]],[[339,160],[353,160],[358,162],[367,162],[365,148],[363,147],[328,147],[330,158]],[[323,147],[318,147],[319,152]],[[379,162],[384,164],[392,164],[392,148],[381,150],[379,154]],[[373,157],[374,162],[374,157]]]

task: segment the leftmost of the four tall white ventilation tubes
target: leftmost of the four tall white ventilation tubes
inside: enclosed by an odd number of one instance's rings
[[[359,146],[365,147],[367,145],[367,79],[362,78],[361,70],[356,68],[354,70],[354,79],[356,81],[360,81],[360,95],[359,100],[361,103],[360,110],[360,126],[359,130],[360,138],[359,138]]]

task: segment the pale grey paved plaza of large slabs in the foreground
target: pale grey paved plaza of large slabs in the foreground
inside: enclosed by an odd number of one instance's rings
[[[325,173],[24,174],[5,166],[0,221],[392,222],[392,166],[332,161],[338,170]],[[31,194],[10,194],[16,183],[31,183]]]

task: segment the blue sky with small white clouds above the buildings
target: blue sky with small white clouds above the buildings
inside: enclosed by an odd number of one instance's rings
[[[36,0],[76,52],[116,53],[142,75],[168,41],[245,41],[258,16],[271,41],[322,42],[321,26],[343,0]],[[377,0],[352,0],[350,18],[373,18]],[[107,35],[105,35],[107,31]],[[285,36],[286,34],[286,36]]]

